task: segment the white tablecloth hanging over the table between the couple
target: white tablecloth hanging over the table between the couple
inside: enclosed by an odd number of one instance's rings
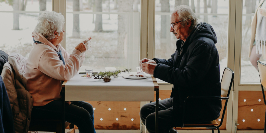
[[[131,74],[137,74],[131,72]],[[76,74],[65,86],[66,101],[153,101],[154,84],[151,75],[146,79],[125,79],[120,74],[110,82],[87,79]]]

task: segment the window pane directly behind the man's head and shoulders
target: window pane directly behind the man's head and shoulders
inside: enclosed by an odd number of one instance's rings
[[[156,0],[155,1],[155,58],[169,59],[176,50],[176,37],[170,32],[170,15],[177,5],[189,5],[198,22],[212,25],[218,42],[221,78],[227,66],[228,0]],[[210,14],[211,13],[211,14]]]

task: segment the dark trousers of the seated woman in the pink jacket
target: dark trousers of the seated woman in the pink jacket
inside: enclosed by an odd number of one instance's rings
[[[31,118],[61,118],[62,100],[54,100],[44,106],[33,106]],[[96,133],[93,107],[88,102],[74,101],[65,105],[65,121],[75,124],[80,133]]]

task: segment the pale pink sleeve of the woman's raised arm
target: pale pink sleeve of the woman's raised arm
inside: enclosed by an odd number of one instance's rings
[[[54,50],[46,50],[40,58],[38,70],[57,80],[70,80],[79,71],[80,56],[81,52],[74,49],[64,65]]]

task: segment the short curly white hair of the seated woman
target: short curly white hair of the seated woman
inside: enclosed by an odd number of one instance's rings
[[[35,32],[42,34],[47,40],[54,39],[54,31],[60,33],[63,31],[65,18],[61,13],[55,11],[45,11],[38,17]]]

